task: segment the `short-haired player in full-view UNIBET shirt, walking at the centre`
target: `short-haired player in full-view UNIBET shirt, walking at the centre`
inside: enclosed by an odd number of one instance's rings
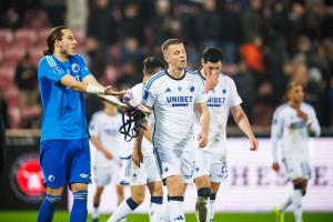
[[[206,94],[196,72],[185,70],[186,52],[178,39],[162,44],[168,70],[154,74],[144,85],[143,104],[154,112],[153,145],[162,180],[165,181],[170,221],[185,221],[183,212],[184,181],[194,173],[196,149],[193,121],[195,111],[201,114],[199,147],[206,145],[210,114]],[[134,145],[141,150],[143,131]],[[133,155],[137,165],[142,159]]]

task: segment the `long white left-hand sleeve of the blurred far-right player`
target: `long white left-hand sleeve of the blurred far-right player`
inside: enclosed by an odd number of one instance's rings
[[[278,108],[273,115],[272,128],[271,128],[271,142],[272,142],[272,158],[273,162],[278,162],[278,144],[282,137],[283,131],[283,119],[281,108]]]

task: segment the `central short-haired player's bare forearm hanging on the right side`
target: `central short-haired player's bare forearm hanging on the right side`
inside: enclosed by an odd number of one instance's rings
[[[205,102],[195,103],[195,111],[200,113],[201,132],[199,133],[199,148],[204,148],[208,143],[211,115]]]

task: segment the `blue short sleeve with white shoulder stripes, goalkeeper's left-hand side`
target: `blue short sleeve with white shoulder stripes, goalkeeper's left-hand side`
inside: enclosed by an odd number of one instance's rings
[[[62,69],[51,56],[43,57],[38,65],[39,78],[47,78],[53,83],[57,83],[67,74],[65,70]]]

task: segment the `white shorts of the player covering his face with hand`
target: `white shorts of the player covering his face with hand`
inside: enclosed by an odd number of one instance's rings
[[[200,149],[195,158],[195,173],[193,179],[209,175],[210,180],[221,183],[228,178],[228,162],[225,154],[205,152]]]

